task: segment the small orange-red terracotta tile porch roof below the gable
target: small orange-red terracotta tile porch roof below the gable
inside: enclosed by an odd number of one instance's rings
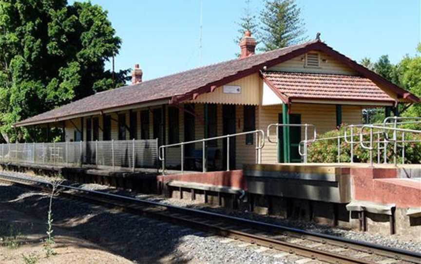
[[[262,72],[263,77],[286,97],[394,101],[373,81],[361,76]]]

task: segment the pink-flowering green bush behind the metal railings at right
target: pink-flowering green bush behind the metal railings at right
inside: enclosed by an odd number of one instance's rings
[[[338,137],[344,136],[345,126],[342,126],[339,130],[329,131],[319,136],[319,138],[330,138],[330,137]],[[360,141],[360,129],[354,129],[354,142]],[[368,133],[369,130],[364,130],[364,134]],[[376,131],[374,131],[376,132]],[[379,131],[377,131],[379,132]],[[388,133],[389,138],[393,138],[391,132]],[[374,134],[374,139],[377,140],[378,135]],[[350,130],[347,131],[347,141],[350,141]],[[383,133],[380,134],[381,141],[384,139]],[[402,139],[402,133],[398,132],[398,140]],[[405,140],[418,140],[421,141],[421,134],[410,134],[405,133]],[[365,145],[369,145],[369,135],[364,135]],[[377,162],[378,158],[378,149],[379,146],[377,143],[373,144],[373,162]],[[383,146],[384,144],[380,144],[380,162],[383,163]],[[397,154],[396,157],[398,162],[402,162],[402,143],[397,144]],[[387,161],[388,163],[393,163],[395,156],[394,154],[394,144],[389,143],[387,144]],[[340,162],[350,162],[351,161],[351,144],[345,142],[344,138],[341,138],[340,141]],[[338,162],[338,140],[330,139],[330,140],[318,140],[308,145],[308,162],[316,162],[316,163],[334,163]],[[362,163],[369,163],[370,162],[370,151],[363,149],[360,143],[354,144],[354,162],[362,162]],[[405,163],[421,163],[421,142],[412,142],[412,143],[405,143]]]

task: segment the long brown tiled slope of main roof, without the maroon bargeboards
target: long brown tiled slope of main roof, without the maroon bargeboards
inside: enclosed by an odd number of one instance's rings
[[[114,90],[97,93],[57,109],[38,114],[16,125],[34,123],[42,120],[51,120],[63,116],[79,113],[95,112],[104,109],[116,108],[158,99],[171,98],[175,95],[190,93],[195,89],[206,86],[214,81],[241,71],[255,67],[269,60],[282,57],[292,51],[305,48],[316,43],[316,40],[289,46],[262,54],[253,55],[243,59],[233,59],[193,70],[168,75],[136,85],[124,86]],[[262,66],[263,67],[263,66]]]

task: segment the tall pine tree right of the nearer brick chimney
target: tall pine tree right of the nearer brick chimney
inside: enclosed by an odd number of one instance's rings
[[[294,0],[266,0],[260,12],[263,51],[283,48],[306,40],[301,9]]]

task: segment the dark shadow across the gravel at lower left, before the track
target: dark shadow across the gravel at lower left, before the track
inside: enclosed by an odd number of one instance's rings
[[[48,197],[38,191],[0,186],[0,206],[7,203],[40,221],[46,222],[48,202]],[[191,234],[205,235],[182,226],[61,197],[56,197],[53,202],[53,214],[55,225],[61,228],[72,226],[79,238],[136,263],[187,263],[191,257],[178,250],[178,245],[188,241]],[[55,234],[60,235],[59,232]]]

